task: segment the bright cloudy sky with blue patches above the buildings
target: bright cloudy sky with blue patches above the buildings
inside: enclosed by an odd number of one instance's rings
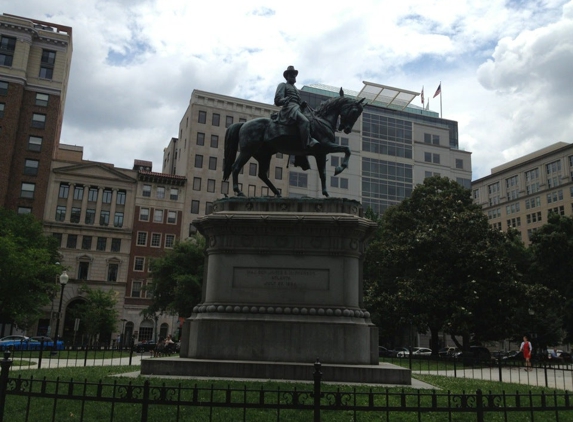
[[[327,6],[328,5],[328,6]],[[73,28],[61,143],[161,171],[194,89],[271,104],[297,86],[419,92],[458,122],[472,179],[573,141],[573,0],[0,0]],[[419,97],[413,104],[421,105]]]

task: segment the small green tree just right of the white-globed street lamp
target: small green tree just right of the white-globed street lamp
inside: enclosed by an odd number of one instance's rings
[[[85,301],[78,305],[74,316],[81,320],[89,343],[97,342],[98,339],[109,339],[119,316],[115,292],[92,289],[87,285],[83,285],[80,291],[85,294]]]

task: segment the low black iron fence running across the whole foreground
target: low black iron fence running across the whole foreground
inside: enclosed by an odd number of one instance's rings
[[[0,422],[110,421],[337,421],[337,420],[573,420],[573,395],[550,393],[451,393],[436,390],[341,389],[322,383],[314,365],[308,389],[215,388],[63,381],[11,377],[11,359],[0,362]],[[310,374],[309,374],[310,375]],[[310,378],[310,377],[309,377]],[[498,420],[498,419],[496,419]]]

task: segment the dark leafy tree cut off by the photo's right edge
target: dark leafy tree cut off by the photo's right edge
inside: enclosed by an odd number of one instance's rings
[[[566,341],[570,342],[573,339],[573,217],[550,213],[547,220],[531,237],[529,283],[542,284],[563,297],[562,327]],[[541,297],[531,300],[532,306],[540,308],[536,302]]]

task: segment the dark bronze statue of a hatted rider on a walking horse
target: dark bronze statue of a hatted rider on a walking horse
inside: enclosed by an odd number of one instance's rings
[[[279,84],[275,94],[275,105],[282,107],[279,113],[270,119],[260,117],[235,123],[227,128],[223,180],[228,180],[229,176],[233,175],[233,191],[237,196],[245,196],[239,189],[238,178],[241,169],[251,157],[259,162],[259,179],[265,182],[277,197],[281,196],[280,192],[268,178],[271,158],[276,153],[295,156],[294,165],[303,170],[310,168],[308,156],[313,156],[324,196],[328,196],[327,154],[344,153],[342,163],[335,168],[335,176],[348,167],[350,148],[334,142],[335,131],[343,131],[346,134],[352,131],[352,126],[364,109],[364,98],[355,100],[345,97],[340,88],[339,97],[328,99],[316,110],[312,110],[301,100],[299,91],[294,86],[297,75],[298,70],[293,66],[289,66],[283,73],[286,83]]]

